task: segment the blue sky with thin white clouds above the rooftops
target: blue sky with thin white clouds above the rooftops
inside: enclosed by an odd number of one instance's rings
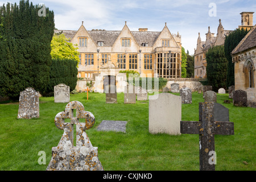
[[[1,1],[3,3],[19,1]],[[44,3],[55,14],[58,30],[78,30],[84,21],[86,30],[121,31],[125,22],[131,31],[148,28],[162,31],[165,23],[172,34],[181,35],[182,47],[195,53],[198,34],[205,40],[210,32],[217,34],[219,19],[224,30],[235,30],[241,25],[243,11],[255,12],[255,0],[33,0]],[[254,16],[256,13],[254,14]],[[255,18],[253,23],[255,24]]]

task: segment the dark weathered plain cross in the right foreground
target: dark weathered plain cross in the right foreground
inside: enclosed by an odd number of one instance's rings
[[[234,123],[214,121],[214,102],[199,103],[199,121],[181,121],[181,134],[199,134],[200,171],[214,171],[214,135],[233,135]]]

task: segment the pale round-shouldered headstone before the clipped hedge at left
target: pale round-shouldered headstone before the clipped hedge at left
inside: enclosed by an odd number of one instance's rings
[[[54,86],[54,102],[65,103],[70,101],[69,86],[65,84],[59,84]]]

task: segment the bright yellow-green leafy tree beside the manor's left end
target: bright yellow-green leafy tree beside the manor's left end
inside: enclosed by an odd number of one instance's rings
[[[77,61],[79,64],[78,47],[74,47],[72,43],[68,42],[69,39],[65,38],[64,34],[54,34],[51,42],[51,56],[52,59],[71,59]],[[77,45],[75,45],[77,46]]]

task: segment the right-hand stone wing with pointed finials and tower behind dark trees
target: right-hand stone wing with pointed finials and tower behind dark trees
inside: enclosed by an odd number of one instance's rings
[[[242,12],[241,13],[241,26],[238,28],[244,28],[250,30],[253,28],[253,13],[254,12]],[[225,43],[225,37],[228,36],[232,30],[224,30],[221,24],[221,19],[219,20],[219,25],[217,29],[217,35],[210,32],[210,27],[208,27],[208,32],[206,35],[206,40],[201,40],[200,33],[197,38],[197,46],[195,49],[195,78],[207,78],[206,67],[207,60],[205,59],[205,53],[208,49],[214,46],[222,46]]]

